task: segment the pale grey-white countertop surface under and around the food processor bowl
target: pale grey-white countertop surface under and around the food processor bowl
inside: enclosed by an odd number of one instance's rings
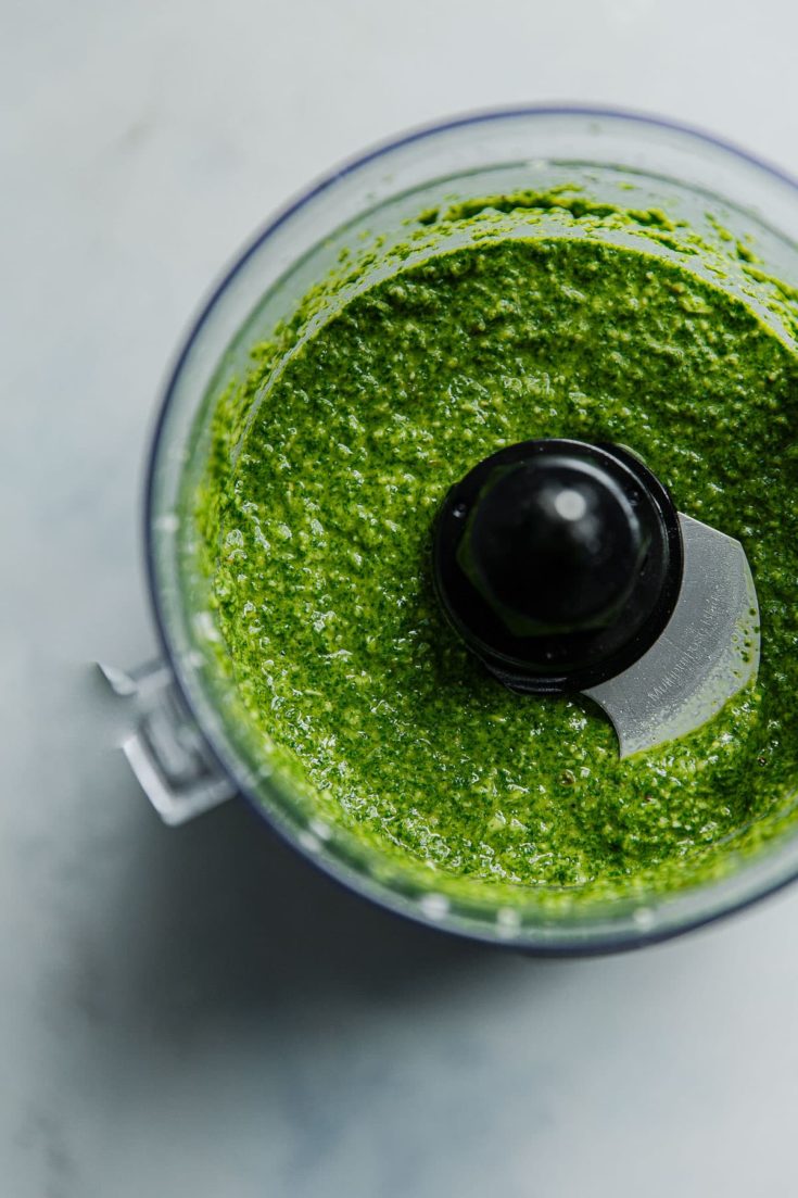
[[[0,1192],[791,1196],[798,890],[531,963],[341,894],[231,805],[159,825],[97,657],[153,646],[156,393],[210,278],[409,123],[580,98],[798,173],[794,4],[5,0]]]

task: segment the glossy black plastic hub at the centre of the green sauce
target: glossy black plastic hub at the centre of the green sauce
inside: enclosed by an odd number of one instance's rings
[[[633,453],[525,441],[479,462],[435,525],[435,586],[507,685],[585,690],[654,643],[682,583],[678,514]]]

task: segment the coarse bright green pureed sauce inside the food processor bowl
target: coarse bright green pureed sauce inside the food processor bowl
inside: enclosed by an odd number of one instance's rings
[[[442,883],[591,902],[700,882],[791,818],[798,357],[786,289],[779,326],[717,267],[699,277],[660,214],[552,202],[546,235],[540,196],[424,214],[484,228],[394,255],[310,333],[312,300],[255,346],[198,512],[247,719],[321,817]],[[760,674],[684,740],[619,761],[590,701],[510,694],[446,624],[439,504],[531,437],[628,444],[679,510],[743,543]]]

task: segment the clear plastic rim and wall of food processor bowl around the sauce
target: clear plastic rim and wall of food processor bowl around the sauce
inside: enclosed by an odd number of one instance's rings
[[[191,569],[189,498],[202,476],[208,420],[248,350],[291,313],[359,236],[403,236],[403,220],[452,194],[483,196],[556,183],[634,196],[693,226],[707,212],[751,236],[768,270],[798,285],[798,184],[693,129],[633,114],[532,108],[483,113],[369,151],[310,187],[243,250],[198,316],[169,379],[146,482],[146,547],[156,619],[182,697],[241,794],[301,853],[364,896],[417,920],[534,952],[631,948],[727,914],[798,876],[798,834],[740,859],[709,884],[552,915],[500,906],[484,883],[467,897],[405,875],[313,810],[264,760],[218,668],[201,580]],[[642,206],[635,200],[635,206]],[[392,854],[393,858],[393,854]]]

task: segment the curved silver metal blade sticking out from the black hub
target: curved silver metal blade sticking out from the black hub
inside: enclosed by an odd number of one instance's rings
[[[584,691],[609,715],[621,757],[677,740],[756,676],[760,607],[738,540],[679,513],[682,589],[665,631],[609,682]]]

